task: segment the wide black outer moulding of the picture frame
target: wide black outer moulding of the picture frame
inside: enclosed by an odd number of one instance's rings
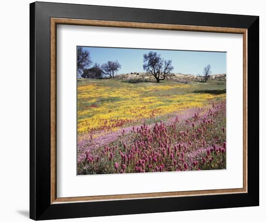
[[[50,203],[50,18],[248,29],[248,192]],[[34,2],[30,4],[30,218],[33,220],[259,206],[259,16]]]

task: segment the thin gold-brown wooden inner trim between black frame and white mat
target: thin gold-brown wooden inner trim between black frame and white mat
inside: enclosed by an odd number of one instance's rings
[[[222,189],[222,190],[195,190],[195,191],[177,191],[177,192],[158,192],[158,193],[138,193],[138,194],[118,194],[104,196],[83,196],[83,197],[65,197],[57,198],[57,163],[56,163],[56,43],[57,43],[57,25],[85,25],[100,27],[117,28],[137,28],[137,29],[155,29],[155,30],[176,30],[193,32],[223,32],[243,34],[243,188]],[[61,204],[69,202],[88,202],[88,201],[109,201],[124,199],[143,199],[143,198],[163,198],[177,196],[195,196],[211,194],[229,194],[245,193],[248,190],[247,178],[247,29],[224,28],[224,27],[204,27],[204,26],[186,26],[173,24],[155,24],[138,22],[120,22],[86,19],[68,19],[51,18],[51,204]]]

